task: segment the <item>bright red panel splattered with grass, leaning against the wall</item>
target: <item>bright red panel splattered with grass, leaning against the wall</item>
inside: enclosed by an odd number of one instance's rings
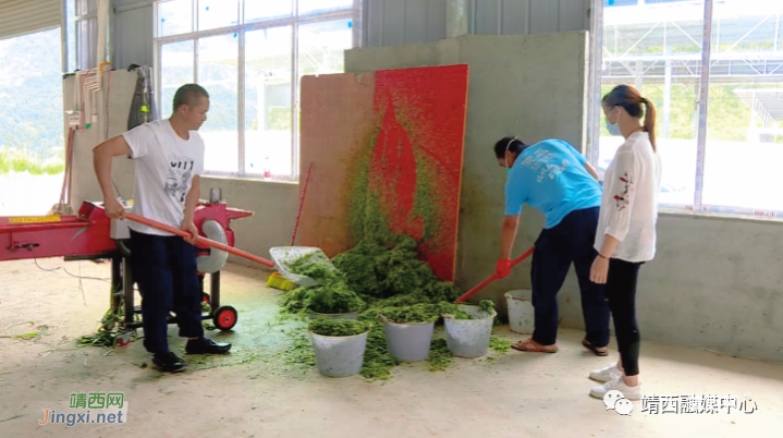
[[[454,280],[467,107],[467,65],[376,72],[382,122],[368,187],[389,231],[419,241],[438,278]]]

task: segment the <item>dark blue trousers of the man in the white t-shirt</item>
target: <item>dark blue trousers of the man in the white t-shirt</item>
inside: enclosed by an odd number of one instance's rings
[[[195,246],[180,236],[131,231],[131,267],[142,294],[144,346],[148,352],[169,352],[171,311],[181,337],[204,336]]]

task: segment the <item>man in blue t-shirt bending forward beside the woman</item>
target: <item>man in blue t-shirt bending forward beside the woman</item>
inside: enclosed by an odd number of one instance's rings
[[[516,137],[506,137],[494,145],[494,154],[507,172],[498,278],[510,273],[511,250],[523,205],[538,208],[547,219],[533,254],[536,328],[533,337],[512,346],[528,352],[558,351],[558,292],[573,261],[586,327],[582,343],[605,356],[609,307],[602,285],[590,281],[590,268],[598,255],[594,248],[601,206],[598,172],[573,146],[560,139],[527,146]]]

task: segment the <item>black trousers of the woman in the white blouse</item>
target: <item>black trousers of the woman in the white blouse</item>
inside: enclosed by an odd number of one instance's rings
[[[636,283],[641,265],[612,258],[603,290],[614,319],[617,350],[626,376],[639,374],[641,337],[636,321]]]

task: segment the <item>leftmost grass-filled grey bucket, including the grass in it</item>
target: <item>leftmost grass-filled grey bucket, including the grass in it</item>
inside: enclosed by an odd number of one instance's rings
[[[318,370],[328,377],[359,373],[371,325],[354,319],[318,318],[309,321]]]

